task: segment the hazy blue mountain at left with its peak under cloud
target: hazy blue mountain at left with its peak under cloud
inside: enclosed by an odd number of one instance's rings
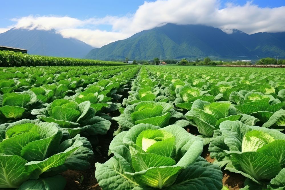
[[[0,45],[27,49],[28,54],[83,58],[92,46],[74,39],[63,38],[54,30],[12,28],[0,34]]]

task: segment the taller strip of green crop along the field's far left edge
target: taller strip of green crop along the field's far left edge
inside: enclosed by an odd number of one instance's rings
[[[21,67],[21,66],[115,66],[127,65],[123,62],[86,60],[76,58],[60,58],[50,56],[36,56],[23,54],[22,52],[0,51],[1,67]]]

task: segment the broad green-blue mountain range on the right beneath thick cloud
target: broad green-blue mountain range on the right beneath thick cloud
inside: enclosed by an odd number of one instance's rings
[[[285,32],[249,35],[233,30],[227,34],[211,26],[169,23],[95,48],[85,58],[146,60],[160,56],[172,59],[251,55],[263,58],[276,54],[285,54]]]

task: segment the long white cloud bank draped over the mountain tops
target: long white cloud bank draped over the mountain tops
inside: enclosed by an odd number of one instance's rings
[[[252,1],[244,5],[227,3],[220,8],[219,0],[157,0],[145,1],[134,14],[80,20],[68,16],[27,16],[13,19],[17,28],[55,29],[65,38],[77,38],[94,47],[125,39],[142,30],[166,23],[205,24],[233,29],[248,34],[256,32],[284,32],[285,7],[261,8]],[[111,30],[99,30],[99,25],[110,25]],[[1,32],[1,28],[0,28]]]

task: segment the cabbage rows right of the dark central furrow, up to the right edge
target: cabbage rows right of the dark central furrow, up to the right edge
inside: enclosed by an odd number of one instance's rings
[[[110,145],[115,156],[96,164],[99,184],[103,189],[221,189],[223,167],[247,177],[243,189],[283,189],[283,72],[143,67],[123,100],[126,108],[113,118],[119,124]],[[182,132],[185,126],[199,133]],[[192,138],[197,144],[190,148]],[[203,144],[209,144],[215,162],[200,166],[219,167],[210,173],[203,168],[200,178],[190,168],[201,161],[196,150]]]

